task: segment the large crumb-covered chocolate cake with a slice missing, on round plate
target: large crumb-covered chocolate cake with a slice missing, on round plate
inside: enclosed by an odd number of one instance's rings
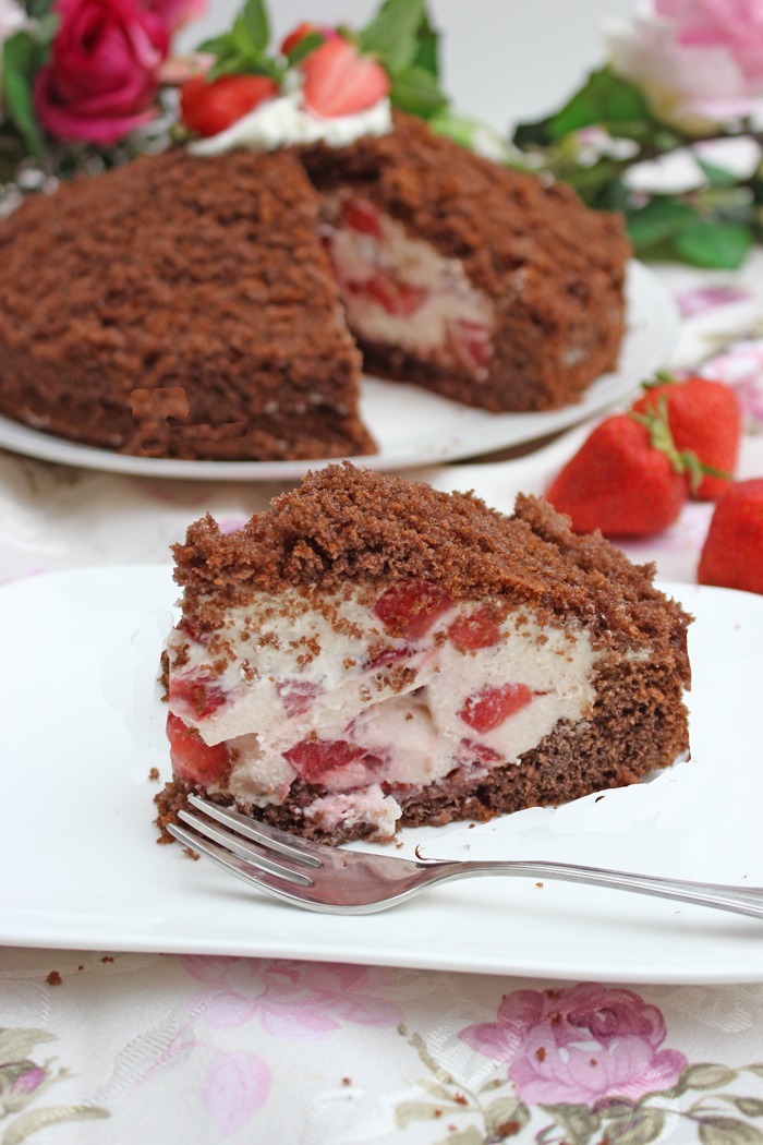
[[[368,372],[550,409],[614,365],[627,255],[614,215],[402,113],[347,147],[174,149],[0,223],[0,413],[143,456],[367,455],[356,340]]]

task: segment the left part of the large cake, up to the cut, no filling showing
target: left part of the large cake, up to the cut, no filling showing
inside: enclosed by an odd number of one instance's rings
[[[374,452],[318,207],[289,151],[30,198],[0,226],[0,412],[143,456]]]

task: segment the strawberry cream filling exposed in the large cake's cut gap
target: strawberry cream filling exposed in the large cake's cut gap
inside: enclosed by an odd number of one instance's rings
[[[389,342],[423,355],[435,350],[459,356],[467,338],[482,344],[480,357],[490,354],[494,326],[493,307],[469,282],[458,259],[446,259],[429,244],[411,238],[402,223],[376,213],[379,234],[353,230],[341,222],[348,196],[324,199],[328,247],[342,293],[348,324],[368,341]],[[373,293],[380,275],[391,276],[407,294],[395,313]],[[477,377],[486,376],[483,363],[467,362]]]

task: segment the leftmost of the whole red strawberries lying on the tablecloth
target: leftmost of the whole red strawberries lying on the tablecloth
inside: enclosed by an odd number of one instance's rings
[[[546,497],[572,519],[575,532],[660,532],[677,519],[688,497],[686,476],[670,445],[663,421],[650,429],[628,413],[615,413],[596,426]]]

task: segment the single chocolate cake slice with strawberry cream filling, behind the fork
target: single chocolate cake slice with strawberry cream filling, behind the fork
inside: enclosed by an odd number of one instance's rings
[[[175,548],[174,779],[329,843],[619,787],[688,749],[689,617],[545,502],[344,465]]]

